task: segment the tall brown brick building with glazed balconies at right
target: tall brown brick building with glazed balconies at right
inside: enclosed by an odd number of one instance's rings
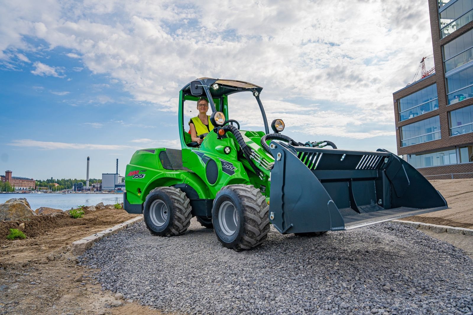
[[[435,73],[393,93],[397,153],[428,179],[473,178],[473,0],[429,0]]]

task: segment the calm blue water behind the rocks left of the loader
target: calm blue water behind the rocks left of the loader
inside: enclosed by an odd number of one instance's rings
[[[100,202],[123,202],[122,193],[0,193],[0,203],[11,198],[26,198],[32,210],[40,207],[70,210],[79,206],[95,206]]]

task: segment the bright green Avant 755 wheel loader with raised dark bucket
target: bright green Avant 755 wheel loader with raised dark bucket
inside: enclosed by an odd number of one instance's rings
[[[126,166],[124,207],[143,213],[153,235],[177,236],[193,216],[214,228],[236,251],[263,243],[270,223],[283,234],[322,235],[447,208],[438,191],[403,159],[376,152],[336,149],[330,141],[301,143],[269,126],[262,87],[201,78],[179,94],[182,150],[140,149]],[[264,131],[239,130],[228,119],[231,94],[250,92]],[[209,101],[213,130],[201,145],[184,126],[184,101]],[[236,125],[236,126],[235,126]],[[333,149],[322,148],[330,145]]]

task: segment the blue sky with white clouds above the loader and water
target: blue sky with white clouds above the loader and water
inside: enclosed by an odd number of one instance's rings
[[[263,86],[296,140],[395,152],[392,93],[432,51],[427,1],[291,4],[3,1],[0,173],[85,178],[89,156],[100,178],[136,149],[177,148],[179,89],[199,77]]]

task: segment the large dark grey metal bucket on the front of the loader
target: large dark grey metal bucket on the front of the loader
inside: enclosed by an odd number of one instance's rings
[[[386,150],[271,147],[270,220],[281,233],[348,230],[447,209],[424,176]]]

